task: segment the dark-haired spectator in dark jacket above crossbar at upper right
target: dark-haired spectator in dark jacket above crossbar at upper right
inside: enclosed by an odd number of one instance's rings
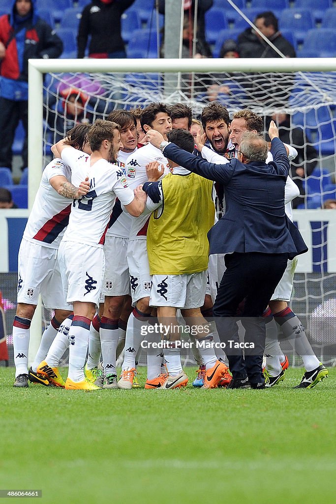
[[[271,11],[258,14],[253,24],[270,40],[287,58],[295,58],[295,49],[278,27],[278,19]],[[252,28],[246,28],[238,35],[238,48],[241,58],[279,58],[281,57]]]

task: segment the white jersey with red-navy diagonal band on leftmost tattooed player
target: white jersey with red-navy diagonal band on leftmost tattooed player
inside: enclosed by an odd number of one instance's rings
[[[49,248],[58,248],[69,222],[72,200],[60,196],[49,180],[57,175],[71,179],[71,170],[59,158],[55,158],[44,168],[32,211],[29,215],[23,237]]]

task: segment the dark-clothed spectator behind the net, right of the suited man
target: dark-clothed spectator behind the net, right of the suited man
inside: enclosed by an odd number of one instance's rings
[[[299,126],[291,126],[289,114],[273,114],[273,119],[279,127],[279,138],[285,144],[292,145],[298,151],[298,155],[291,164],[291,177],[299,188],[300,196],[292,201],[293,208],[303,203],[305,196],[304,179],[312,174],[317,164],[317,151],[307,140],[305,131]],[[268,119],[270,122],[270,119]]]

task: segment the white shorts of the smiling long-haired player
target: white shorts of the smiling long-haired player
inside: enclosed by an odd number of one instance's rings
[[[130,294],[127,245],[127,238],[119,238],[117,236],[105,237],[105,275],[102,289],[104,296],[124,296]]]

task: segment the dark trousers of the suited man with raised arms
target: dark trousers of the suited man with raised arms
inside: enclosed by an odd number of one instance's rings
[[[265,348],[265,319],[262,313],[287,267],[287,254],[234,252],[225,256],[226,270],[221,280],[213,313],[219,337],[235,379],[247,376],[251,383],[264,381],[262,356]],[[242,313],[237,317],[239,305]],[[239,345],[238,320],[245,329],[245,348]],[[236,345],[236,346],[235,346]]]

